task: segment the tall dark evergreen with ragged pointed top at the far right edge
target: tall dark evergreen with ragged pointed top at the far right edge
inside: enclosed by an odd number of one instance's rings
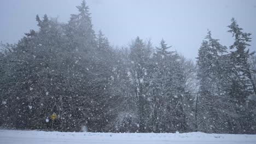
[[[252,119],[254,116],[252,111],[248,110],[246,102],[249,95],[256,92],[248,63],[249,57],[254,53],[249,53],[249,49],[247,49],[247,46],[250,46],[248,43],[251,41],[251,34],[242,32],[243,29],[237,25],[234,18],[231,19],[231,24],[228,27],[230,28],[228,32],[232,33],[232,37],[235,38],[234,44],[230,46],[231,50],[235,49],[230,53],[233,74],[230,95],[235,99],[236,112],[241,116],[235,127],[236,131],[240,131],[240,133],[245,133],[246,131],[247,133],[252,133]]]

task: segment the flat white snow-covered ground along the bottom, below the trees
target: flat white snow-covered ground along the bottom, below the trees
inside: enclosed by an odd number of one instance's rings
[[[49,144],[49,143],[256,143],[256,135],[230,134],[139,134],[139,133],[62,133],[47,131],[0,130],[0,143]]]

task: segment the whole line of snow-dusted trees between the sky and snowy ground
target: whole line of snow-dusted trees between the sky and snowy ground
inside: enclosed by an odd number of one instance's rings
[[[25,33],[18,44],[1,44],[2,127],[256,133],[251,34],[234,19],[230,50],[209,31],[195,65],[164,40],[153,47],[137,37],[114,49],[92,29],[85,1],[77,8],[68,23],[37,15],[39,31]]]

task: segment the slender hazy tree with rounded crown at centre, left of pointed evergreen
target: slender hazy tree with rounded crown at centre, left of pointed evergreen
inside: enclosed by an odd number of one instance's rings
[[[130,46],[130,73],[135,92],[136,104],[138,106],[139,132],[147,130],[147,119],[149,107],[146,96],[146,77],[150,56],[152,55],[152,46],[143,43],[142,39],[137,37]]]

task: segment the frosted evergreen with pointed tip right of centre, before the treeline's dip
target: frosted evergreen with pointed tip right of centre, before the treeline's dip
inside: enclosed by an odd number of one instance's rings
[[[188,131],[185,113],[185,76],[181,57],[168,51],[170,47],[162,40],[153,57],[150,88],[152,101],[152,125],[155,132]]]

